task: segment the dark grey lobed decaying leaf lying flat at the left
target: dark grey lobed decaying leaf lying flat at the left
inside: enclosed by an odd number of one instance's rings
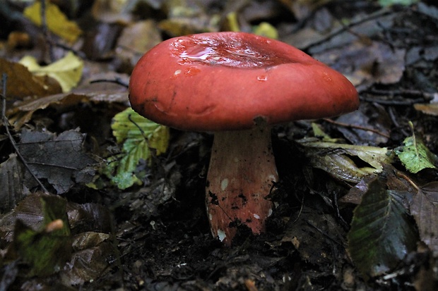
[[[18,149],[37,178],[47,179],[60,194],[67,192],[75,182],[87,183],[93,178],[94,173],[87,173],[85,168],[96,161],[83,151],[84,139],[85,135],[76,130],[58,136],[24,130]],[[35,180],[28,175],[25,185],[31,188]]]

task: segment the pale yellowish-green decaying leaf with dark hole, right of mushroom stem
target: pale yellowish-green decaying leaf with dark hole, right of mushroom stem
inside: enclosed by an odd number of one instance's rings
[[[299,142],[312,166],[348,182],[359,182],[365,175],[380,173],[382,163],[392,161],[391,151],[385,147],[306,140]],[[355,159],[360,162],[355,163]]]

